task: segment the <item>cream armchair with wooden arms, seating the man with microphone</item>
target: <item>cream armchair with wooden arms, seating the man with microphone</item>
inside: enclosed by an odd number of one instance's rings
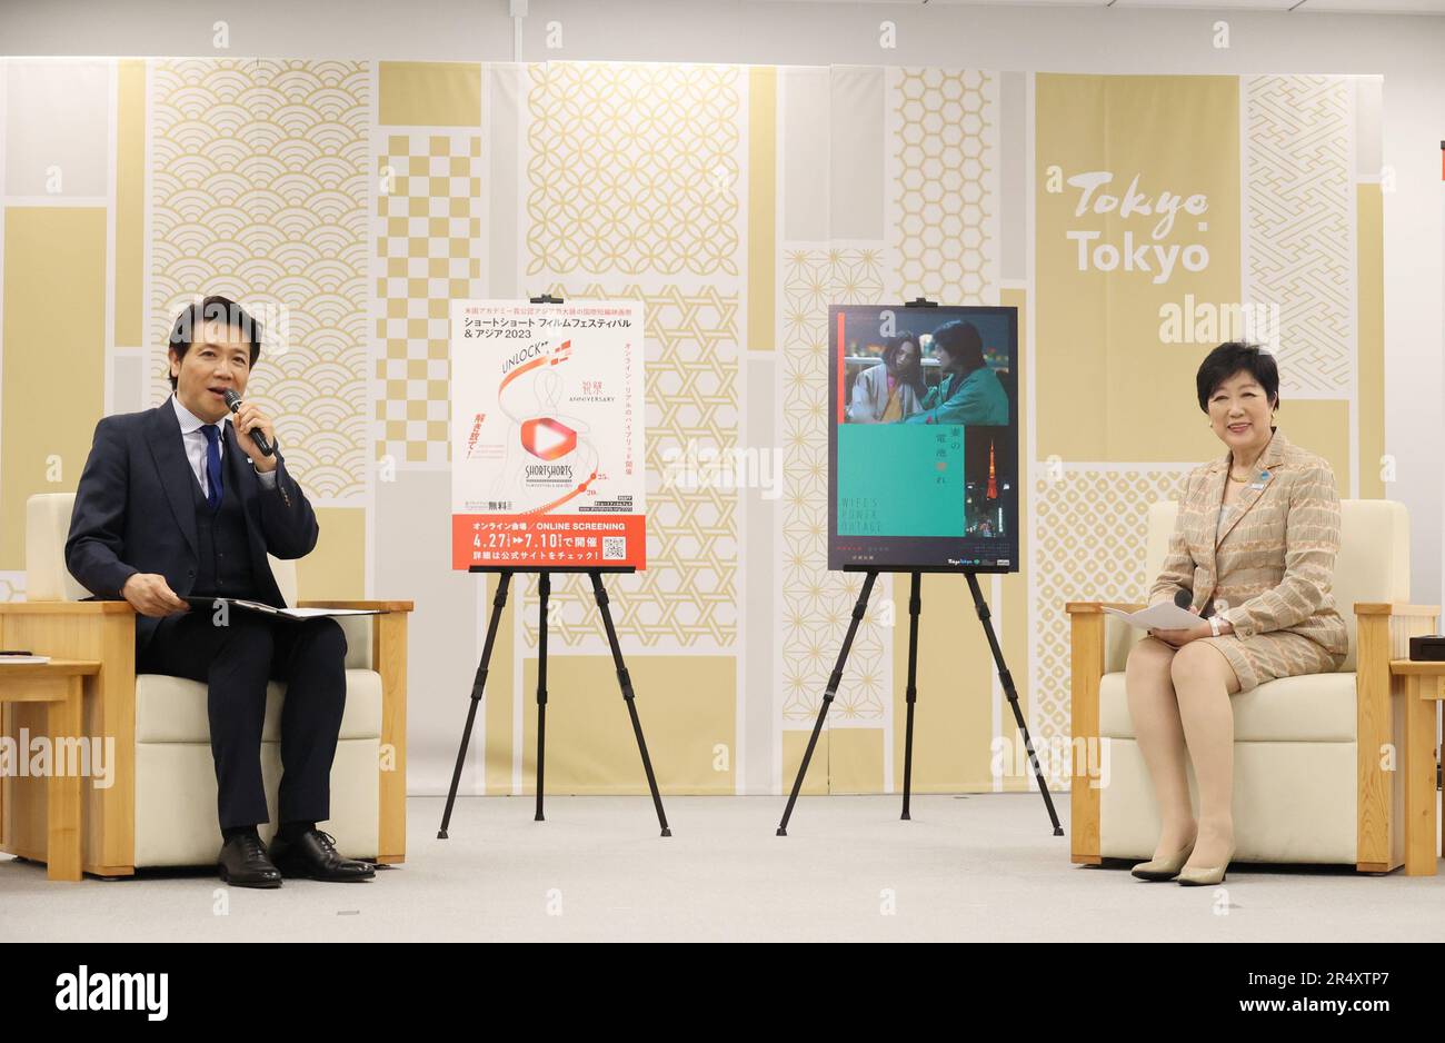
[[[33,495],[26,504],[26,597],[0,604],[0,646],[100,660],[84,708],[87,735],[114,737],[111,786],[84,786],[82,864],[104,877],[137,868],[211,865],[221,847],[215,767],[205,685],[136,675],[134,613],[124,601],[79,601],[87,591],[65,569],[74,494]],[[270,559],[288,604],[296,601],[295,562]],[[406,620],[410,601],[302,605],[384,608],[341,618],[347,634],[347,706],[331,769],[331,819],[342,854],[406,858]],[[262,774],[273,822],[280,782],[280,706],[286,686],[266,693]],[[45,730],[43,708],[6,706],[3,734]],[[45,861],[45,780],[0,783],[0,849]],[[87,780],[88,782],[88,780]]]

